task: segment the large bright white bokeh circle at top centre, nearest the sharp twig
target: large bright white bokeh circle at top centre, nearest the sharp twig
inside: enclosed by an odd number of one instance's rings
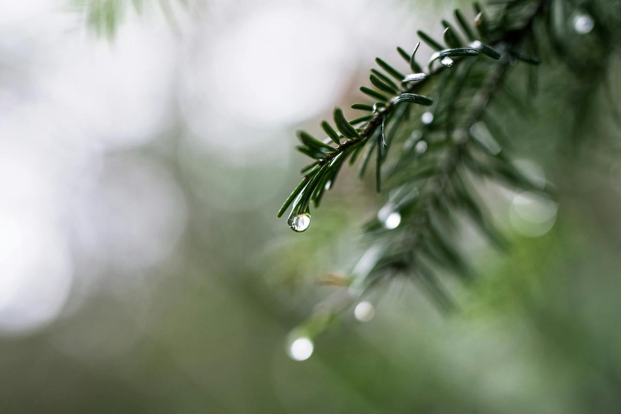
[[[337,99],[355,68],[347,32],[330,14],[298,3],[247,7],[206,25],[185,52],[181,110],[223,156],[265,144],[261,134],[222,140],[230,124],[270,128],[312,117]]]

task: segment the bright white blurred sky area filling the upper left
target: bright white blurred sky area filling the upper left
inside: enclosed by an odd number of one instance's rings
[[[108,42],[69,3],[0,1],[1,335],[42,329],[109,274],[147,283],[132,275],[175,251],[184,192],[140,147],[181,126],[173,155],[187,160],[192,191],[213,208],[263,208],[286,184],[292,128],[355,94],[375,55],[399,62],[394,45],[412,48],[427,29],[407,2],[215,1],[173,7],[176,30],[156,8],[130,12]],[[195,154],[224,160],[253,201],[201,164],[205,177]],[[281,173],[248,182],[255,167]]]

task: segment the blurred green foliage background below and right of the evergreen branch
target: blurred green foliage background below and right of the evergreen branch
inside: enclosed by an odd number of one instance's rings
[[[540,92],[521,96],[526,116],[509,105],[495,114],[510,131],[512,153],[537,160],[558,187],[558,219],[538,239],[505,229],[506,255],[474,244],[478,278],[450,285],[460,308],[454,315],[442,316],[397,278],[373,293],[372,321],[357,323],[347,310],[316,339],[308,361],[291,361],[287,334],[338,290],[317,285],[317,277],[350,269],[358,223],[382,205],[373,180],[360,185],[345,171],[299,235],[274,223],[287,188],[248,220],[207,214],[188,191],[195,183],[179,174],[189,231],[149,291],[134,292],[129,303],[102,293],[45,331],[2,338],[0,411],[618,412],[619,57],[597,76],[542,60]],[[514,71],[511,84],[525,83]],[[165,134],[142,151],[170,162],[167,149],[178,136]],[[196,156],[227,171],[222,161]],[[292,185],[299,165],[291,163]],[[201,185],[213,185],[204,178]],[[84,326],[91,329],[76,328]],[[75,359],[55,346],[55,336],[72,329],[93,349],[141,334],[114,357]]]

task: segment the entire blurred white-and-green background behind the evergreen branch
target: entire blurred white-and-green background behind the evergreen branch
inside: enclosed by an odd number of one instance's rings
[[[553,66],[530,121],[496,109],[558,194],[489,185],[513,247],[463,230],[478,279],[450,285],[455,315],[398,278],[297,338],[383,199],[347,172],[294,234],[275,218],[304,165],[294,131],[360,101],[375,56],[399,62],[464,2],[109,3],[113,36],[79,2],[0,6],[1,413],[618,412],[621,140],[603,88],[583,129]]]

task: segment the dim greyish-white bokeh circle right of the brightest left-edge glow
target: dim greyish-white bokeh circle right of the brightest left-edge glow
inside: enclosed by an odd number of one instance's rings
[[[107,160],[78,205],[76,232],[88,257],[116,269],[143,269],[170,255],[187,220],[186,201],[167,168],[146,157]]]

